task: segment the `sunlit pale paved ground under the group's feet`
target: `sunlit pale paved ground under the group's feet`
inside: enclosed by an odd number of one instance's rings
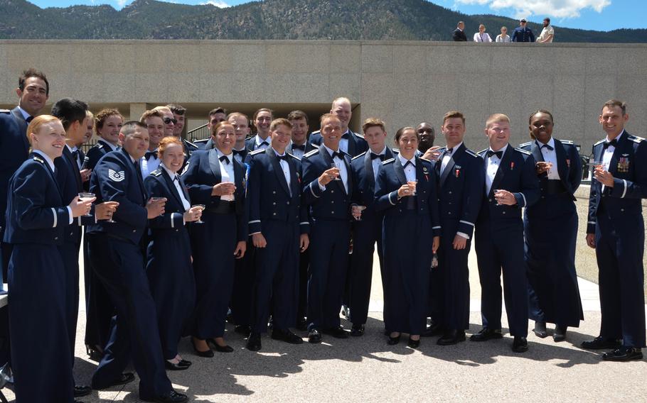
[[[481,328],[473,255],[470,267],[469,333],[473,333]],[[405,341],[395,347],[385,343],[376,269],[370,318],[362,338],[326,337],[321,345],[292,346],[265,336],[263,349],[252,353],[228,325],[225,337],[235,348],[233,353],[198,358],[191,353],[189,341],[183,340],[181,354],[193,366],[169,372],[169,377],[193,402],[647,402],[645,360],[601,362],[601,353],[577,347],[597,336],[600,321],[597,285],[580,280],[579,286],[585,320],[578,329],[569,329],[565,342],[530,333],[530,350],[517,354],[510,350],[509,336],[447,347],[437,346],[436,338],[423,338],[420,348],[412,350]],[[346,321],[343,324],[350,327]],[[85,311],[80,311],[75,374],[77,382],[87,385],[96,363],[86,359],[84,326]],[[507,326],[505,315],[503,326]],[[5,391],[11,400],[11,391]],[[93,392],[83,401],[138,402],[137,382]]]

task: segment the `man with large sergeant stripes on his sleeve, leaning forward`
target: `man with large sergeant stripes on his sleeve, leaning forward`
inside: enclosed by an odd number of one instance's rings
[[[146,126],[137,121],[124,123],[119,140],[123,148],[102,157],[90,180],[90,192],[96,194],[97,202],[119,202],[114,223],[98,221],[87,230],[95,234],[90,239],[92,266],[117,307],[117,319],[92,376],[92,388],[100,390],[134,380],[132,373],[123,373],[132,359],[139,375],[139,399],[186,402],[186,395],[173,390],[166,377],[156,307],[139,246],[148,220],[164,214],[166,200],[147,201],[139,172],[139,160],[149,146]]]

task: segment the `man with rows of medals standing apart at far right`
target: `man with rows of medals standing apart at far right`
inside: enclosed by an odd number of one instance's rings
[[[595,167],[589,195],[587,245],[599,269],[600,335],[583,348],[613,348],[603,360],[642,360],[645,347],[643,253],[645,225],[641,199],[647,198],[647,141],[624,130],[626,104],[602,106],[599,122],[606,138],[593,146]]]

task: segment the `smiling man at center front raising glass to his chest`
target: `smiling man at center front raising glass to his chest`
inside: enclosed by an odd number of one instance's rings
[[[321,332],[347,338],[339,309],[346,282],[351,241],[350,205],[353,189],[351,158],[339,149],[342,123],[333,114],[321,116],[323,143],[304,155],[303,203],[311,217],[308,279],[308,340],[321,342]]]

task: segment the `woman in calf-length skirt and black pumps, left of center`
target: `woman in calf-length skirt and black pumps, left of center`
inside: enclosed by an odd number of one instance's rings
[[[231,123],[213,126],[215,147],[196,151],[184,168],[182,179],[193,203],[204,204],[203,224],[191,228],[193,269],[196,274],[196,311],[193,348],[213,357],[206,341],[221,353],[233,349],[225,343],[225,317],[234,280],[234,261],[245,255],[245,168],[233,158],[236,132]]]

